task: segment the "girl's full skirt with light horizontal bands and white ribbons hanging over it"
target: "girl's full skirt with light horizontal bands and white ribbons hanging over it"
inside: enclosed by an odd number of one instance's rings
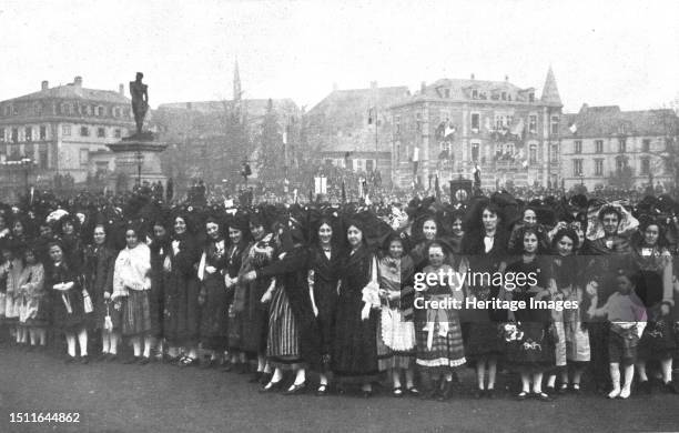
[[[459,316],[453,310],[446,310],[445,313],[448,330],[443,335],[440,321],[427,322],[426,311],[418,311],[415,320],[415,335],[417,340],[416,363],[420,367],[446,372],[466,363]],[[429,326],[433,326],[432,331]]]

